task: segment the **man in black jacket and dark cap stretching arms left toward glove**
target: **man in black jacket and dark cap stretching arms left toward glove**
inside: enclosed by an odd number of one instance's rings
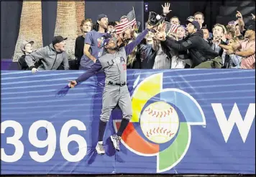
[[[161,32],[157,32],[156,39],[162,41],[163,45],[178,50],[178,52],[188,50],[193,62],[191,67],[196,67],[202,62],[218,57],[219,54],[214,52],[209,44],[203,39],[204,34],[200,30],[200,24],[198,21],[187,21],[187,24],[188,37],[183,40],[177,42],[170,39],[170,37],[166,37],[163,30]]]

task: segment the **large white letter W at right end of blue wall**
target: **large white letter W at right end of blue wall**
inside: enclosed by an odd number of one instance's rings
[[[229,115],[229,120],[227,120],[221,103],[212,103],[211,106],[214,110],[216,119],[218,120],[219,127],[221,128],[221,132],[226,143],[227,140],[229,140],[229,135],[232,132],[235,123],[237,124],[237,128],[243,142],[245,142],[252,126],[252,122],[255,119],[255,103],[250,103],[244,120],[239,112],[237,103],[234,103],[234,107]]]

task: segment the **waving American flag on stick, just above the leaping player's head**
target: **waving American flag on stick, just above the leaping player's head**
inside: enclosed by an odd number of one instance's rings
[[[122,24],[117,24],[114,28],[116,29],[116,34],[122,34],[125,30],[132,25],[136,24],[134,9],[127,14],[127,19],[122,22]]]

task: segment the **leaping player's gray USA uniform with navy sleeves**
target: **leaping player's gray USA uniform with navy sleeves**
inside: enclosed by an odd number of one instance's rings
[[[76,80],[77,83],[87,80],[89,77],[104,70],[106,79],[102,97],[101,121],[109,121],[111,110],[119,104],[123,112],[123,118],[132,118],[132,101],[127,87],[127,56],[132,52],[137,44],[140,44],[146,36],[148,30],[145,29],[134,42],[121,47],[114,54],[104,54],[96,60],[91,69],[85,72]]]

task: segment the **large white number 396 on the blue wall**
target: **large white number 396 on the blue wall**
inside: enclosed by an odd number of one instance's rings
[[[68,136],[68,131],[72,127],[76,127],[78,130],[86,130],[86,125],[79,120],[69,120],[67,123],[65,123],[60,131],[60,151],[65,160],[70,162],[78,162],[81,161],[84,156],[86,156],[87,143],[81,135],[73,134]],[[14,120],[6,120],[2,122],[1,133],[4,133],[6,128],[14,129],[14,135],[6,138],[6,143],[14,145],[15,151],[11,156],[9,156],[6,155],[4,148],[1,148],[1,161],[12,163],[19,161],[24,154],[24,145],[22,141],[19,140],[19,138],[22,137],[23,129],[22,125]],[[46,140],[38,140],[37,130],[39,128],[47,129]],[[52,156],[54,156],[56,150],[56,131],[52,123],[48,122],[47,120],[38,120],[37,122],[33,123],[29,128],[28,138],[29,142],[36,148],[45,148],[48,146],[45,155],[40,155],[37,151],[29,151],[29,155],[33,160],[43,163],[49,161]],[[76,141],[76,143],[78,143],[79,150],[76,155],[71,155],[68,151],[68,144],[71,141]]]

